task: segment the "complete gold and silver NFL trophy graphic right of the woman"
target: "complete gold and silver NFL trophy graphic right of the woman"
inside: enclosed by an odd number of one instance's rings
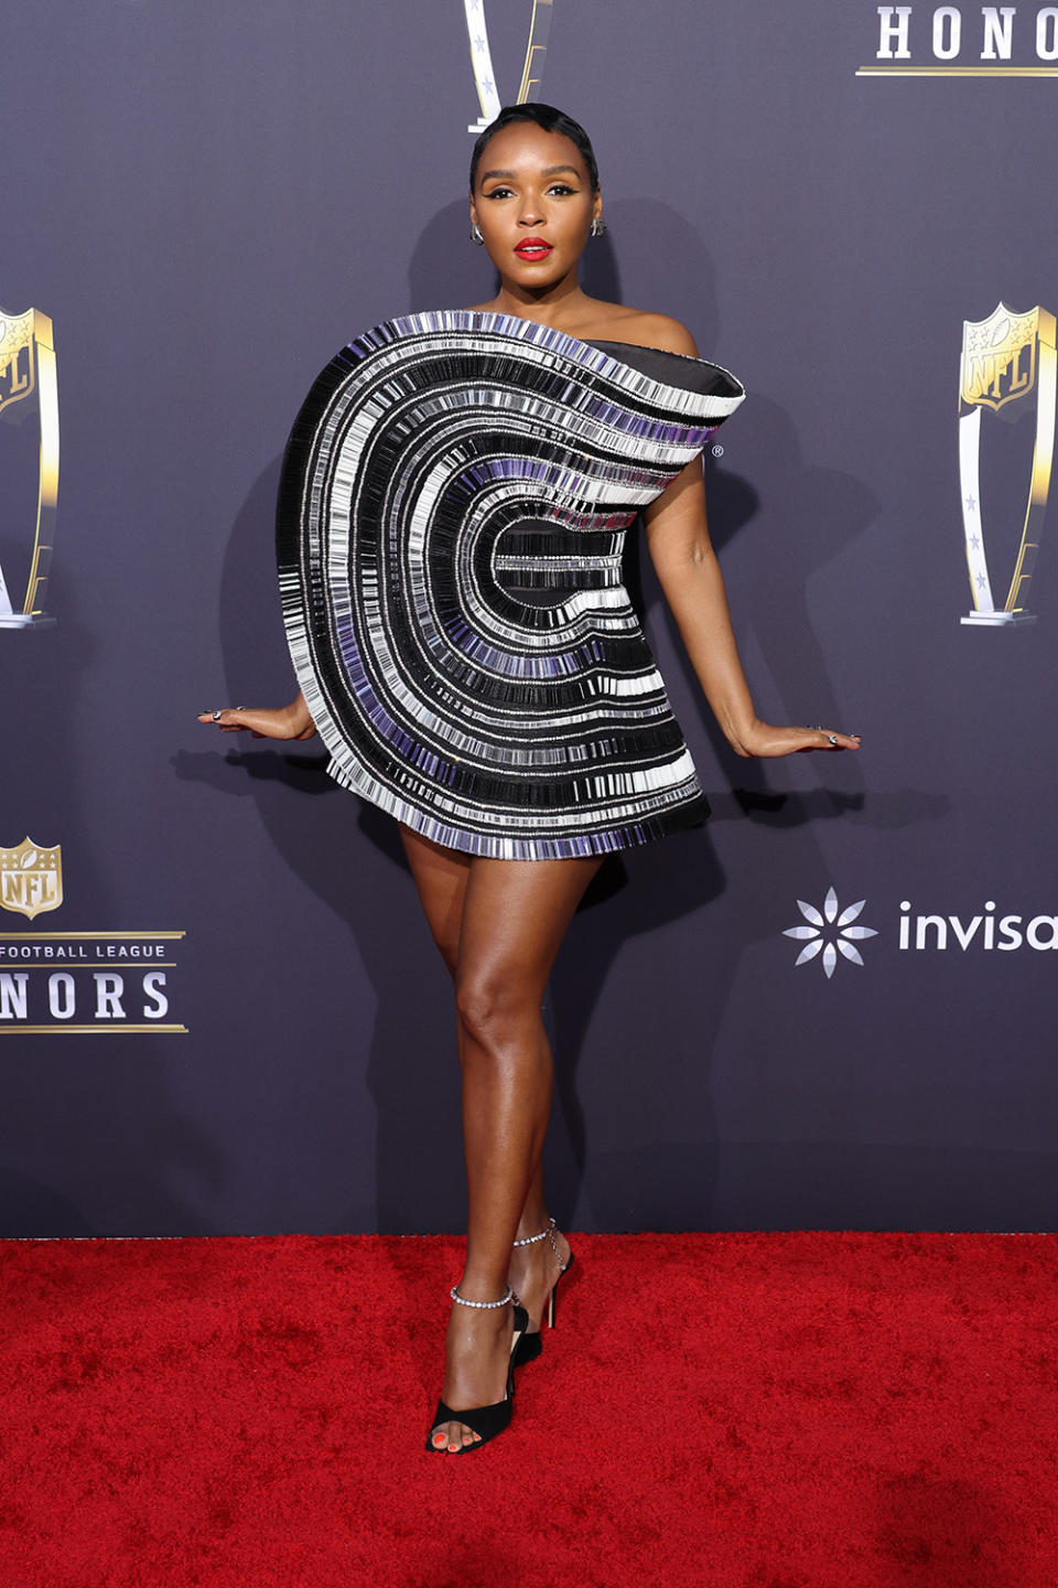
[[[1029,580],[1036,567],[1039,535],[1047,511],[1050,470],[1055,456],[1055,386],[1058,359],[1055,354],[1055,316],[1045,308],[1017,314],[998,303],[988,319],[963,321],[963,357],[960,364],[958,462],[963,491],[963,529],[966,562],[974,610],[963,622],[1009,627],[1036,622],[1025,610]],[[980,421],[982,408],[999,413],[1007,403],[1020,403],[1036,392],[1036,440],[1033,446],[1031,483],[1022,540],[1014,559],[1014,573],[1002,607],[996,608],[991,576],[985,557],[985,530],[980,508]],[[1004,418],[1015,418],[1007,410]],[[1018,508],[1020,511],[1020,508]],[[993,553],[995,561],[995,553]]]

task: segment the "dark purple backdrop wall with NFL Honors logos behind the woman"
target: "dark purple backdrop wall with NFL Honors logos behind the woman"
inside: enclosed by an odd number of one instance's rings
[[[746,383],[760,711],[864,738],[731,756],[631,545],[714,819],[562,951],[554,1212],[1053,1228],[1058,6],[35,0],[0,52],[0,1234],[463,1223],[395,826],[195,713],[289,699],[289,426],[490,294],[470,129],[519,92],[595,138],[588,291]]]

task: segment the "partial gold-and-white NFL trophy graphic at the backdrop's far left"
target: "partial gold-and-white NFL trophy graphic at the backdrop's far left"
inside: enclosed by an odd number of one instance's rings
[[[36,308],[29,308],[24,314],[0,310],[0,413],[33,391],[40,410],[36,524],[19,613],[13,610],[0,575],[0,629],[24,629],[51,621],[44,616],[44,589],[59,502],[59,381],[52,324]]]

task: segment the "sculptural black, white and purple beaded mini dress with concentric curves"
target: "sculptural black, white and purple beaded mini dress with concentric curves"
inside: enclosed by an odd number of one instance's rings
[[[742,402],[704,359],[411,314],[322,372],[276,546],[330,773],[471,854],[606,854],[707,804],[620,581],[625,532]]]

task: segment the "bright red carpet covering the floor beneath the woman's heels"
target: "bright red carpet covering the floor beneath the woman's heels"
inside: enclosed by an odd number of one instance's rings
[[[447,1237],[3,1242],[3,1588],[1055,1588],[1055,1235],[573,1235],[422,1450]]]

